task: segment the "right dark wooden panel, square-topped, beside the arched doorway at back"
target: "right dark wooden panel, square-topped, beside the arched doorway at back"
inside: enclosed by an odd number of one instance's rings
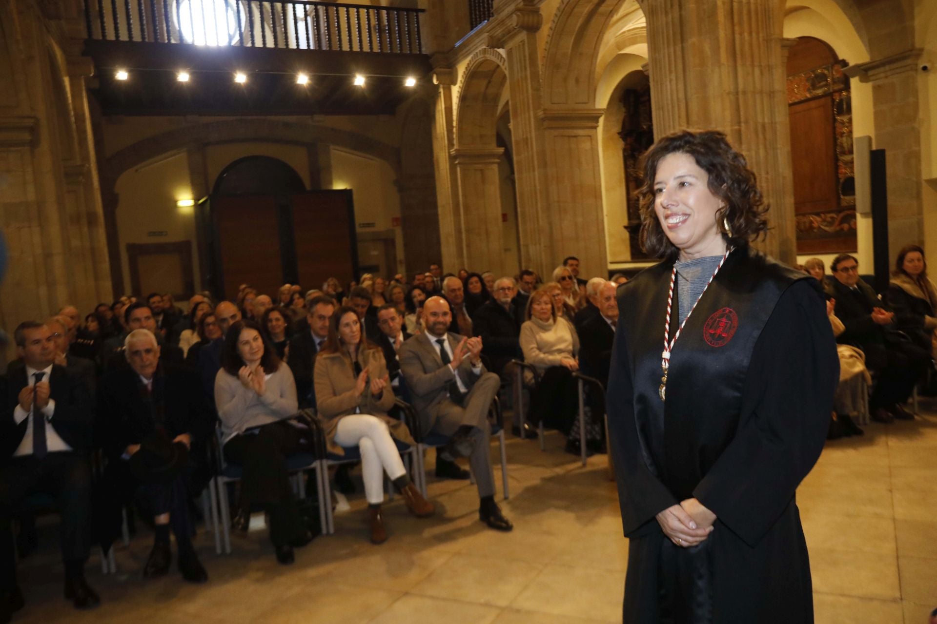
[[[318,191],[290,196],[299,282],[320,288],[326,278],[355,279],[358,245],[350,191]]]

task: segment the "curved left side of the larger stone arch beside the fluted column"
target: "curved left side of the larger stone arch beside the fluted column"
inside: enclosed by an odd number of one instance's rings
[[[546,37],[545,106],[594,106],[602,36],[618,9],[629,1],[562,0]]]

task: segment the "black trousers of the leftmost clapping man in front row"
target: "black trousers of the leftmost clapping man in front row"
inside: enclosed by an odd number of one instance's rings
[[[91,467],[75,453],[12,457],[0,468],[0,593],[16,585],[10,517],[34,494],[55,499],[62,515],[62,560],[83,564],[91,550]]]

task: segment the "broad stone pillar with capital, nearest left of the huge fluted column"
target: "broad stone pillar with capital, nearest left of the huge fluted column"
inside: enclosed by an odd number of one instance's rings
[[[541,175],[546,184],[543,221],[550,224],[550,248],[544,276],[563,257],[579,258],[580,273],[604,276],[608,270],[602,177],[599,164],[599,119],[602,109],[544,109]]]

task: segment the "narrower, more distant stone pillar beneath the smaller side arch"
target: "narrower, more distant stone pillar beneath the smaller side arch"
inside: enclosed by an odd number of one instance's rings
[[[503,275],[505,270],[513,274],[515,270],[501,266],[504,244],[498,160],[502,153],[504,148],[459,148],[452,152],[463,215],[459,243],[465,266],[473,269],[487,267],[496,275]]]

